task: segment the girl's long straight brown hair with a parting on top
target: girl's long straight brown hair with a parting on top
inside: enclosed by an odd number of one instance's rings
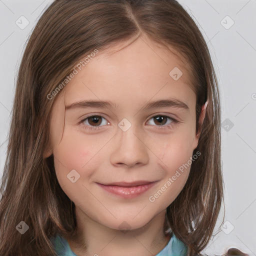
[[[75,234],[75,206],[61,189],[49,146],[49,95],[87,54],[141,33],[170,45],[191,67],[200,138],[185,186],[167,207],[173,233],[198,254],[208,243],[222,200],[220,106],[210,54],[195,22],[175,0],[55,0],[25,48],[16,82],[0,187],[0,255],[54,255],[51,238]],[[52,95],[52,94],[51,94]],[[203,125],[201,106],[208,100]],[[24,234],[16,225],[24,221]]]

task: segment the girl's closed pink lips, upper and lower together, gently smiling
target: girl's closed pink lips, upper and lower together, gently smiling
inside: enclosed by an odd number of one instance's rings
[[[111,184],[97,183],[104,190],[123,198],[134,198],[155,185],[157,181],[114,182]]]

